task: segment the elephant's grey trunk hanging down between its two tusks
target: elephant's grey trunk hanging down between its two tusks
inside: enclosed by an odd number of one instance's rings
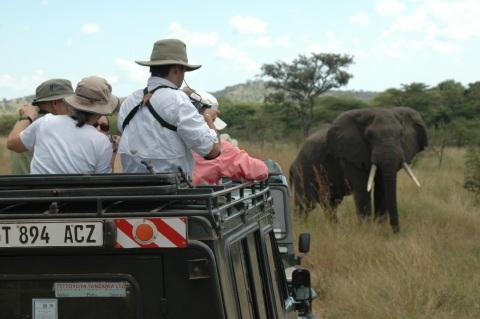
[[[386,164],[382,166],[382,177],[385,194],[385,207],[389,214],[390,225],[395,233],[400,231],[397,210],[397,167]]]

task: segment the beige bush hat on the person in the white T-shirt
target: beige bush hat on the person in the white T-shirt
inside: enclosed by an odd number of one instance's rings
[[[64,101],[76,110],[109,115],[119,105],[120,100],[112,95],[112,87],[98,76],[83,78],[75,89],[75,94]]]

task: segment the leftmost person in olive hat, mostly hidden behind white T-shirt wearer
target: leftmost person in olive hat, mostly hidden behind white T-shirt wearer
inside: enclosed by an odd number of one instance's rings
[[[19,109],[20,119],[12,129],[13,134],[23,131],[37,117],[43,114],[69,114],[70,108],[63,103],[63,98],[73,94],[72,83],[66,79],[50,79],[42,82],[35,90],[32,104],[26,104]],[[12,174],[24,175],[30,173],[32,152],[16,153],[10,155],[10,168]]]

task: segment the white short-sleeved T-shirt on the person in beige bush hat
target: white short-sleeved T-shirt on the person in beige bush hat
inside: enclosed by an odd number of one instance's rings
[[[33,151],[31,174],[92,174],[112,172],[112,144],[92,125],[77,127],[68,115],[47,114],[20,133]]]

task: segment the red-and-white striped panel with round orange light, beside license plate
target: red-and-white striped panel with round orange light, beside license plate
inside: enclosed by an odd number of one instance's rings
[[[116,248],[187,247],[186,217],[115,219]]]

